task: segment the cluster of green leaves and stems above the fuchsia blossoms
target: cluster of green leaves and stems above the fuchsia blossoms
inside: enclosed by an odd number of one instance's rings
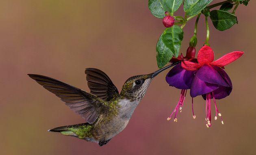
[[[184,17],[174,16],[174,12],[179,9],[183,2]],[[165,12],[174,16],[174,26],[165,28],[160,35],[156,44],[156,60],[158,68],[162,68],[169,60],[175,56],[178,57],[183,39],[182,28],[193,17],[204,14],[205,17],[210,17],[213,26],[220,31],[227,30],[237,23],[237,17],[234,15],[239,4],[248,4],[249,0],[226,0],[216,4],[209,5],[213,0],[149,0],[148,7],[152,15],[163,19]],[[216,6],[221,6],[219,10],[212,10]],[[229,12],[232,8],[233,11]],[[207,20],[206,20],[207,21]],[[197,20],[198,22],[198,20]],[[208,22],[208,21],[207,21]],[[178,26],[178,24],[182,24]],[[196,23],[197,24],[197,23]],[[195,28],[196,32],[196,28]],[[195,35],[196,36],[196,33]]]

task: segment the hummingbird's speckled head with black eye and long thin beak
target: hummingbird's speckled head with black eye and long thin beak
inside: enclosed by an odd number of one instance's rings
[[[152,79],[158,75],[160,72],[164,71],[165,69],[168,69],[174,65],[176,65],[178,62],[168,65],[166,67],[163,67],[153,73],[146,74],[146,75],[136,75],[128,78],[126,82],[124,83],[120,95],[123,97],[126,97],[131,100],[138,100],[141,101],[141,99],[144,97],[146,91],[148,90],[148,86]]]

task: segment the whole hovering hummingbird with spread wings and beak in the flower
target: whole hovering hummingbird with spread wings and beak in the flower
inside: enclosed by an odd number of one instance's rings
[[[177,63],[150,74],[128,78],[120,94],[108,75],[95,68],[85,69],[90,93],[51,77],[37,74],[28,74],[28,76],[61,98],[65,105],[86,121],[86,123],[56,127],[48,131],[60,132],[65,136],[74,136],[103,146],[127,126],[152,79]]]

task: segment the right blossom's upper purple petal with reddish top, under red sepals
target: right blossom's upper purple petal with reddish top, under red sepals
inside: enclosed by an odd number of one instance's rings
[[[206,64],[203,65],[197,71],[197,76],[200,80],[204,82],[208,82],[211,84],[218,84],[220,86],[226,86],[226,87],[229,86],[229,84],[226,82],[226,80],[223,79],[223,77],[216,70],[216,68],[211,65],[206,65]]]

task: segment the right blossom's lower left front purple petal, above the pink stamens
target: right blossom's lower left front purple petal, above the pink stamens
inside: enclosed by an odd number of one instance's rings
[[[191,84],[191,88],[190,88],[191,97],[207,94],[219,88],[218,84],[212,84],[212,83],[208,83],[200,80],[197,76],[197,73],[195,74],[195,77]]]

